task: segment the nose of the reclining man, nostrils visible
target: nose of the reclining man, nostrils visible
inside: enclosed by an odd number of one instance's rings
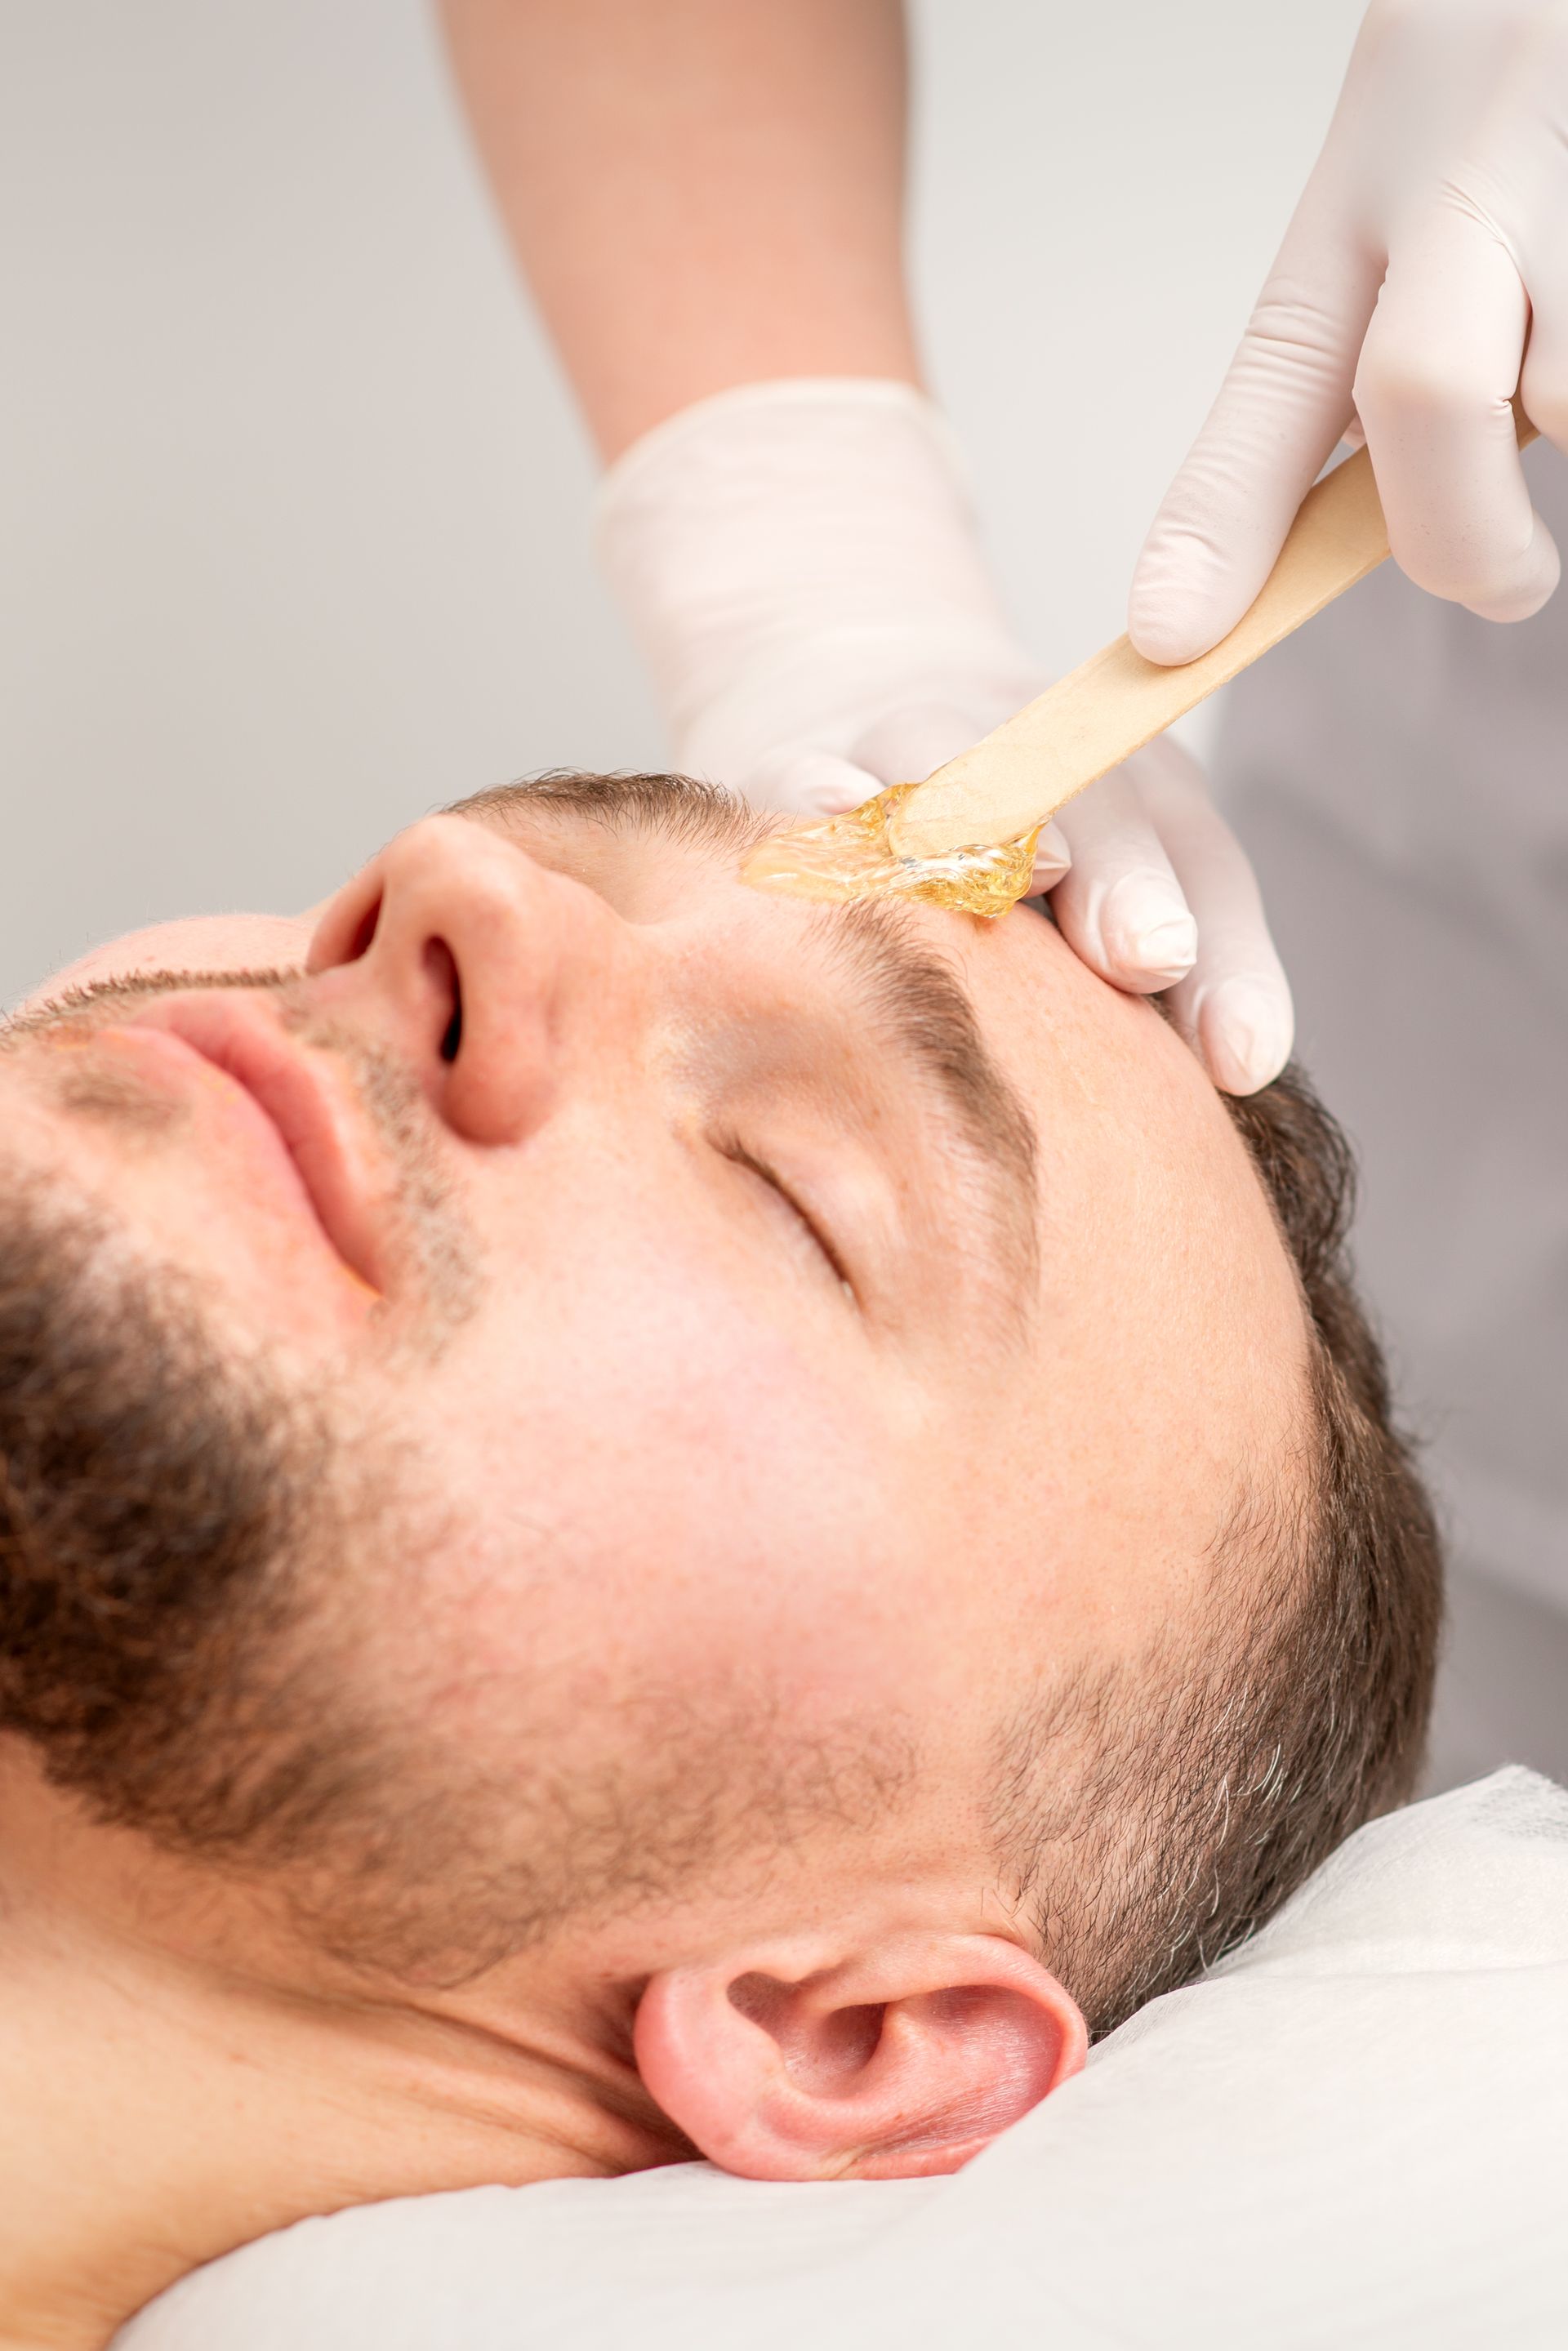
[[[400,832],[322,915],[317,1002],[414,1070],[465,1143],[522,1143],[625,990],[595,891],[463,816]]]

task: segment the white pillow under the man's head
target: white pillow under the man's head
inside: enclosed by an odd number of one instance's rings
[[[705,2163],[367,2205],[115,2351],[1563,2351],[1568,1794],[1352,1836],[952,2179]]]

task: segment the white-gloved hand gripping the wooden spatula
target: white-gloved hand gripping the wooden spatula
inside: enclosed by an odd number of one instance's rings
[[[1420,588],[1490,621],[1537,611],[1559,557],[1519,465],[1514,388],[1568,447],[1568,14],[1373,0],[1138,562],[1138,651],[1192,661],[1241,618],[1347,428],[1366,435],[1389,545]]]

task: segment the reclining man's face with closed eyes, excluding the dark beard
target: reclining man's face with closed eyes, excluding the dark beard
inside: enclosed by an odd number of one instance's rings
[[[24,1023],[5,1183],[411,1498],[343,1570],[355,1688],[557,1808],[559,1900],[743,1869],[797,1801],[849,1834],[851,1754],[917,1791],[896,1867],[952,1871],[999,1726],[1197,1620],[1300,1418],[1197,1063],[1037,910],[759,896],[679,797],[435,818],[294,938]]]

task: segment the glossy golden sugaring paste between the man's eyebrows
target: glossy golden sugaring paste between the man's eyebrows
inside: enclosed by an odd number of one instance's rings
[[[741,879],[790,898],[846,905],[851,898],[922,898],[961,915],[1006,915],[1030,893],[1034,832],[999,849],[950,849],[940,858],[903,858],[889,842],[889,818],[914,790],[891,783],[846,816],[790,825],[752,849]]]

